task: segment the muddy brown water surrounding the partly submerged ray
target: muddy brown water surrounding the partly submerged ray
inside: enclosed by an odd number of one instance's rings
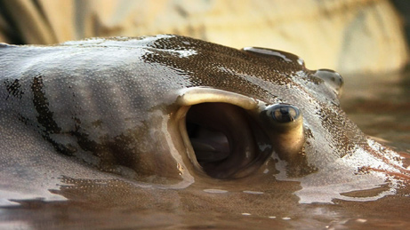
[[[366,134],[410,159],[410,71],[345,76],[342,107]],[[409,160],[405,160],[410,164]],[[371,202],[299,203],[298,182],[204,179],[185,189],[61,178],[68,201],[16,201],[0,229],[409,229],[410,188]],[[408,184],[407,184],[408,185]],[[387,187],[350,193],[366,197]],[[229,192],[228,192],[229,191]],[[263,192],[261,192],[263,191]]]

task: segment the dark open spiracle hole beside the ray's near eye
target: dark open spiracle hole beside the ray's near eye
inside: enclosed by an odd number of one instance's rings
[[[189,107],[181,126],[189,159],[213,178],[242,178],[271,153],[268,136],[242,107],[205,102]]]

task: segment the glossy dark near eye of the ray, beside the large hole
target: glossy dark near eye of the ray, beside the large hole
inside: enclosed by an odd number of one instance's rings
[[[273,105],[267,110],[273,121],[277,123],[292,123],[301,115],[299,108],[288,104]]]

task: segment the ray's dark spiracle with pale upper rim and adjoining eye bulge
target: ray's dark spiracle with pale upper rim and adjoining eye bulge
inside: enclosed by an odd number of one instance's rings
[[[289,165],[306,161],[298,107],[266,103],[230,91],[181,91],[176,113],[189,160],[213,178],[242,178],[276,153]]]

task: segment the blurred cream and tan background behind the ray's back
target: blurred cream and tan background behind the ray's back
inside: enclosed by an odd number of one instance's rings
[[[293,52],[342,74],[406,67],[407,0],[0,0],[0,42],[178,34]],[[400,12],[401,11],[401,12]]]

